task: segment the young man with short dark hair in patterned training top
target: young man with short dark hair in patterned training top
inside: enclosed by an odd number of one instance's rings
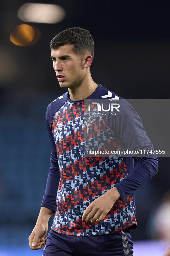
[[[158,170],[156,155],[143,154],[143,150],[152,152],[152,143],[131,105],[92,80],[94,42],[87,30],[66,29],[56,35],[50,47],[60,87],[68,92],[47,108],[51,168],[40,214],[29,237],[30,248],[38,250],[46,244],[43,256],[132,255],[130,228],[137,227],[135,190]],[[98,100],[109,102],[110,114],[94,107],[100,108]],[[89,106],[93,112],[88,112]],[[104,152],[107,146],[112,151],[134,150],[136,166],[133,158],[114,152],[84,155],[85,148],[97,147]],[[54,212],[51,231],[44,238]]]

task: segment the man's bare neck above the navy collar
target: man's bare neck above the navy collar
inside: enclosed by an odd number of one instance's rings
[[[93,81],[91,75],[84,79],[81,84],[74,86],[74,88],[69,88],[68,92],[70,95],[70,100],[78,101],[84,100],[89,95],[95,91],[98,85]]]

